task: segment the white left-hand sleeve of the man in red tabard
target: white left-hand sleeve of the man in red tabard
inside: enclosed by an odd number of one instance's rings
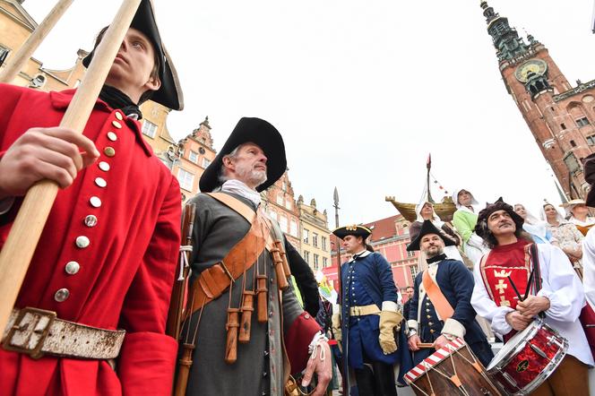
[[[489,297],[479,271],[480,263],[481,261],[476,263],[473,268],[475,286],[471,295],[471,306],[475,308],[475,312],[479,316],[482,316],[491,324],[492,330],[498,334],[508,334],[513,330],[513,327],[506,322],[506,314],[512,312],[513,308],[510,306],[496,306],[496,303]]]

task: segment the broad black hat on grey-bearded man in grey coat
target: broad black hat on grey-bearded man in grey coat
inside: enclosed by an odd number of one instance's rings
[[[211,193],[220,185],[219,172],[223,166],[223,157],[234,151],[243,143],[252,142],[264,151],[266,156],[266,181],[256,187],[261,192],[273,185],[287,169],[285,158],[285,144],[277,128],[256,117],[242,117],[229,135],[223,148],[213,159],[211,164],[204,169],[199,187],[203,193]]]

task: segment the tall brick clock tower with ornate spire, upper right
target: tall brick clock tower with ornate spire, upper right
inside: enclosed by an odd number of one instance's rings
[[[481,2],[504,86],[521,111],[566,198],[584,198],[582,159],[595,147],[595,80],[571,87],[533,36],[525,43],[508,19]]]

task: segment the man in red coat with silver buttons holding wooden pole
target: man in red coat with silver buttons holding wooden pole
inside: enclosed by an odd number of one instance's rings
[[[4,331],[0,393],[169,394],[180,191],[137,119],[151,95],[183,100],[150,1],[82,135],[56,127],[73,94],[0,85],[0,247],[30,185],[62,187]]]

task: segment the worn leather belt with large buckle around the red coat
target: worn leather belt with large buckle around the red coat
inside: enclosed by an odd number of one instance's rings
[[[56,318],[38,308],[13,309],[4,330],[2,347],[33,358],[111,359],[118,356],[124,330],[105,330]]]

